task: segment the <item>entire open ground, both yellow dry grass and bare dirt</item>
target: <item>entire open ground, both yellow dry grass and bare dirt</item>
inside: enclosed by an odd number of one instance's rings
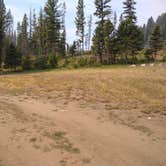
[[[0,76],[0,166],[165,166],[166,68]]]

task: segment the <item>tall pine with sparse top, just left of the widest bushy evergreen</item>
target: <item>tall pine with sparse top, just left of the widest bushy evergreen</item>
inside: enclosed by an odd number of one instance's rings
[[[105,49],[104,23],[105,18],[111,14],[110,2],[111,0],[95,0],[96,11],[94,14],[99,18],[99,21],[93,38],[93,50],[99,56],[101,63],[103,63]]]

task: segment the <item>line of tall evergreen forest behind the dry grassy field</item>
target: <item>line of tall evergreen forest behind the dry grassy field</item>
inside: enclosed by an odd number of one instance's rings
[[[66,41],[67,6],[58,0],[47,0],[36,13],[24,14],[14,29],[11,10],[0,0],[0,66],[1,69],[55,68],[69,57],[91,55],[81,64],[137,63],[142,55],[146,62],[157,59],[166,45],[166,13],[157,21],[151,17],[143,27],[137,25],[135,0],[124,0],[120,18],[111,9],[111,0],[95,0],[95,12],[85,18],[84,0],[78,0],[75,26],[77,40]],[[94,17],[97,21],[94,23]],[[96,19],[95,19],[96,20]],[[95,31],[93,32],[93,25]],[[163,60],[166,59],[163,54]]]

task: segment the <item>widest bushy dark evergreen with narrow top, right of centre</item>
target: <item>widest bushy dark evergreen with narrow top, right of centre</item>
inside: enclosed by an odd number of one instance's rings
[[[134,0],[124,2],[125,20],[120,22],[117,32],[119,50],[124,55],[126,62],[128,62],[129,55],[134,62],[136,60],[135,54],[143,48],[143,32],[136,25],[135,4]]]

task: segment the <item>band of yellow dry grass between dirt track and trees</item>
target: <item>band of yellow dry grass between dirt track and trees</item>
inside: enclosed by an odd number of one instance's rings
[[[166,111],[166,68],[97,68],[0,76],[0,93],[106,103],[110,109]]]

